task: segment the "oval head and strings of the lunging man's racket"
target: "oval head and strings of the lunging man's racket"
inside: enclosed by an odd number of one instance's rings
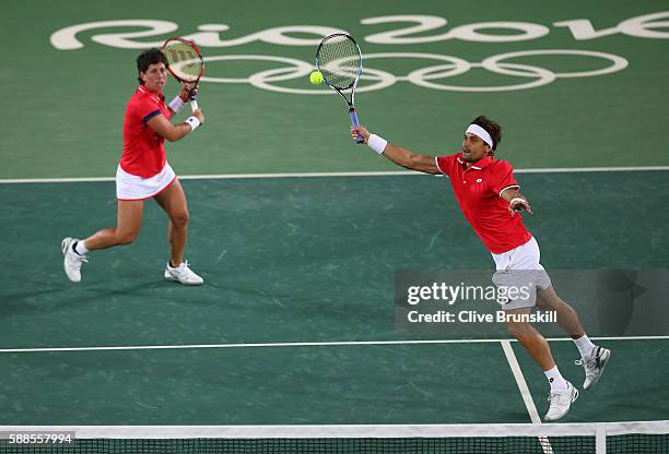
[[[318,70],[328,83],[339,89],[350,88],[361,65],[357,45],[348,36],[333,36],[318,49]]]

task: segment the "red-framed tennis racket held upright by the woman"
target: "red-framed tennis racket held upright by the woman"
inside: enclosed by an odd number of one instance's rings
[[[163,44],[163,53],[167,58],[167,70],[174,77],[187,84],[195,84],[190,89],[190,107],[198,109],[198,84],[204,73],[204,59],[195,43],[174,37]]]

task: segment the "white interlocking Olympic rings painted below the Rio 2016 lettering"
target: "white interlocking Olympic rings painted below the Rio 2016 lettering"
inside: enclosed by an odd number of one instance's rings
[[[608,64],[603,68],[601,68],[600,64],[600,68],[587,71],[555,72],[532,64],[508,61],[523,57],[541,56],[576,56],[582,58],[585,57],[588,59],[597,59],[600,61],[603,60],[605,63]],[[371,68],[368,65],[368,62],[375,59],[434,60],[437,61],[438,64],[413,70],[408,74],[395,75],[388,71]],[[284,63],[286,64],[286,67],[256,72],[255,74],[248,77],[215,77],[212,75],[206,75],[202,77],[202,81],[222,84],[251,84],[257,88],[286,94],[328,95],[333,93],[330,89],[326,91],[314,88],[293,88],[278,85],[277,83],[280,82],[306,77],[314,70],[313,63],[289,57],[258,55],[227,55],[206,57],[204,61],[208,63],[207,73],[211,74],[213,71],[215,71],[215,64],[212,63],[216,61],[234,60],[271,61]],[[558,79],[591,77],[596,75],[611,74],[618,71],[622,71],[629,64],[627,60],[612,53],[575,49],[541,49],[506,52],[488,57],[478,63],[472,63],[458,57],[444,56],[439,53],[380,52],[366,53],[364,56],[364,72],[361,79],[361,85],[357,88],[357,93],[374,92],[377,89],[387,88],[398,82],[409,82],[413,85],[418,85],[424,88],[448,92],[510,92],[516,89],[540,87],[543,85],[548,85]],[[492,86],[453,85],[442,82],[444,80],[447,80],[448,77],[465,74],[472,69],[483,69],[488,72],[501,74],[504,76],[520,77],[523,81],[512,85]]]

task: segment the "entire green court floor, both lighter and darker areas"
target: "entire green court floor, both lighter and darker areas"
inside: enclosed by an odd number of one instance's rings
[[[188,13],[173,0],[9,1],[0,431],[538,422],[505,339],[397,328],[398,270],[494,264],[445,178],[388,175],[400,169],[351,142],[339,96],[308,83],[316,44],[357,38],[361,122],[394,143],[445,155],[478,115],[502,123],[496,157],[519,170],[549,272],[666,270],[667,20],[669,4],[646,0],[202,0]],[[71,284],[61,239],[116,222],[134,58],[174,35],[207,58],[207,122],[167,143],[191,214],[187,259],[206,285],[163,279],[153,202],[138,241],[92,253]],[[578,351],[562,340],[553,354],[580,387]],[[598,342],[609,369],[564,421],[669,420],[667,336]],[[542,416],[545,379],[510,346]]]

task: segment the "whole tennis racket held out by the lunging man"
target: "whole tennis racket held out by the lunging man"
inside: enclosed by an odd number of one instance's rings
[[[316,68],[322,74],[322,81],[347,101],[351,124],[360,126],[355,112],[355,88],[362,75],[362,52],[355,39],[343,33],[326,36],[316,50]],[[349,88],[350,99],[344,94]],[[357,134],[357,143],[363,141],[363,136]]]

